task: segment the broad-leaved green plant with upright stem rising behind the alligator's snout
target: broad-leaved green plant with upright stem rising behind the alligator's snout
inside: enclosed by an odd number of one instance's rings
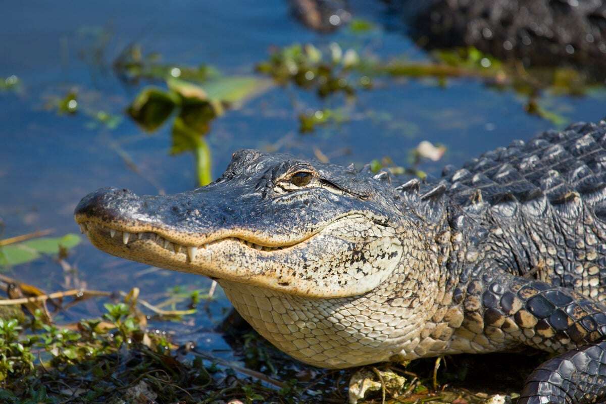
[[[248,98],[269,87],[265,80],[254,77],[219,77],[204,85],[169,78],[167,90],[146,87],[127,108],[130,117],[148,132],[162,127],[175,116],[171,130],[171,154],[191,151],[196,159],[200,186],[210,184],[211,157],[204,135],[210,122],[226,108],[237,107]]]

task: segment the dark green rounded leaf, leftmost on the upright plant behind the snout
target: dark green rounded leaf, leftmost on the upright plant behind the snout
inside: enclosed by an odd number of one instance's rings
[[[178,96],[161,88],[146,87],[127,108],[127,113],[149,132],[164,124],[180,103]]]

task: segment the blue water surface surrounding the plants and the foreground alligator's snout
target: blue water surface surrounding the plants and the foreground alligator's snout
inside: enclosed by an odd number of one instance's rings
[[[384,59],[401,55],[427,59],[402,30],[384,28],[398,24],[398,19],[381,2],[352,3],[353,15],[376,24],[363,39],[346,30],[324,36],[313,33],[291,17],[281,0],[4,2],[0,77],[17,75],[22,91],[0,92],[0,218],[4,222],[0,237],[48,228],[56,235],[78,233],[73,209],[82,196],[99,187],[129,188],[138,194],[195,187],[190,154],[167,153],[170,125],[147,135],[123,114],[139,87],[122,84],[111,63],[128,44],[138,42],[167,62],[211,64],[225,74],[252,74],[256,62],[267,58],[270,46],[295,42],[321,46],[337,41],[370,49]],[[78,88],[80,104],[121,116],[121,124],[114,130],[90,128],[92,119],[82,110],[76,116],[61,116],[45,109],[49,99],[64,96],[70,88]],[[275,87],[229,111],[212,123],[208,136],[215,176],[238,148],[273,145],[304,157],[313,157],[317,148],[340,164],[364,164],[389,156],[405,165],[409,151],[422,140],[448,148],[438,164],[422,165],[437,175],[444,164],[459,165],[483,151],[553,127],[525,113],[524,101],[511,90],[491,90],[473,79],[448,81],[445,87],[431,80],[394,80],[360,91],[348,122],[300,135],[291,105],[293,93],[303,110],[344,104],[339,96],[322,101],[305,91]],[[571,122],[597,121],[606,114],[600,91],[550,100],[551,108]],[[127,167],[120,153],[135,162],[139,173]],[[150,270],[108,256],[86,240],[68,262],[78,268],[76,274],[64,273],[48,258],[19,265],[8,275],[46,291],[72,287],[128,291],[138,286],[144,299],[155,302],[175,286],[210,286],[204,277]],[[196,340],[204,349],[228,349],[221,334],[213,331],[230,306],[221,291],[217,296],[207,311],[199,311],[186,323],[162,327],[178,340]],[[60,319],[99,316],[101,304],[102,300],[88,300]]]

